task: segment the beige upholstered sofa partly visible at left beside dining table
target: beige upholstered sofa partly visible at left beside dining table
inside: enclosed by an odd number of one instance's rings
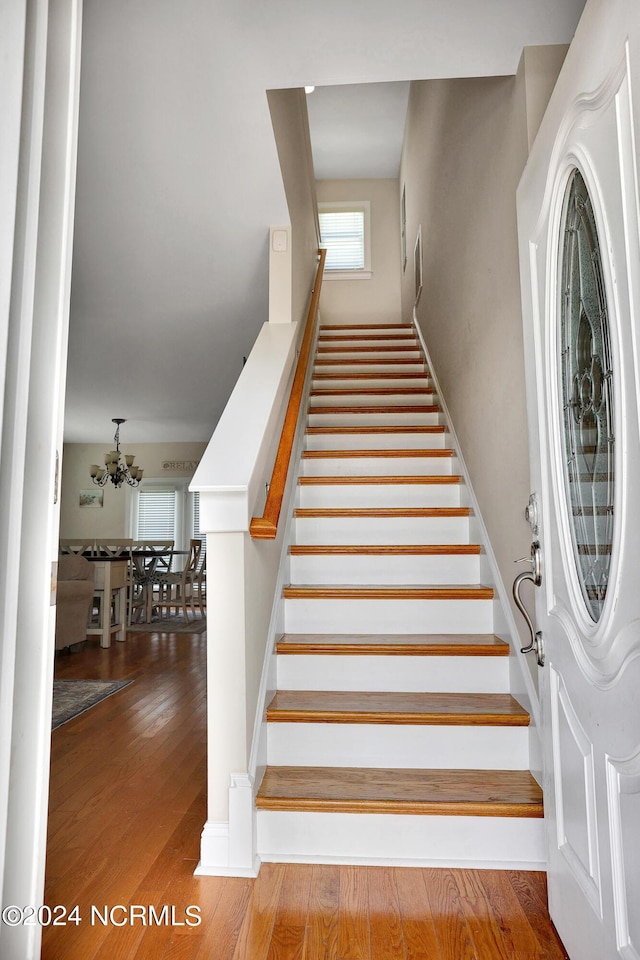
[[[56,650],[82,650],[93,600],[93,566],[85,558],[64,554],[58,560]]]

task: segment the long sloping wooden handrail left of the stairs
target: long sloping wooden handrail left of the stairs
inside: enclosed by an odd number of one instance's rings
[[[278,444],[275,463],[273,464],[273,473],[267,493],[267,500],[264,505],[264,513],[261,517],[253,517],[249,524],[249,533],[254,540],[275,540],[278,532],[278,520],[280,519],[280,510],[284,499],[284,488],[287,482],[289,472],[289,463],[291,461],[291,451],[293,449],[293,439],[296,433],[298,415],[300,413],[300,403],[302,401],[302,391],[304,381],[307,375],[307,366],[309,363],[309,352],[318,314],[318,305],[320,303],[320,289],[322,287],[322,274],[324,271],[324,261],[327,255],[326,250],[320,250],[320,262],[316,272],[316,279],[313,284],[313,293],[307,322],[304,330],[302,346],[300,347],[300,356],[291,386],[291,395],[287,405],[287,412],[282,425],[282,434]]]

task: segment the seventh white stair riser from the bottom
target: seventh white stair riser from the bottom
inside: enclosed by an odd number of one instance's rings
[[[457,507],[459,483],[301,484],[300,506]]]

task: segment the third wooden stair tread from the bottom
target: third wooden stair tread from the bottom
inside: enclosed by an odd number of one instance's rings
[[[508,657],[509,644],[491,633],[326,634],[285,633],[278,654],[292,656]]]

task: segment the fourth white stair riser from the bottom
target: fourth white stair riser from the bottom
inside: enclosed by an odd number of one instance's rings
[[[285,600],[286,633],[491,633],[491,600]]]

